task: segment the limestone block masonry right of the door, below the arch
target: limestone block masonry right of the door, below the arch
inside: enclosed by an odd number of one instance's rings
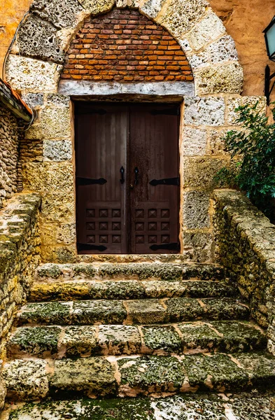
[[[230,81],[229,81],[230,83]],[[226,87],[225,87],[226,88]],[[183,254],[188,261],[215,261],[213,241],[214,176],[230,165],[224,137],[238,130],[236,109],[258,103],[265,113],[265,97],[223,94],[185,98],[182,118],[181,190]]]

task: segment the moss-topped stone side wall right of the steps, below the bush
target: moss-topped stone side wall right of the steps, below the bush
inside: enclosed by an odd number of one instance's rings
[[[267,328],[275,355],[275,225],[235,190],[216,190],[213,201],[217,260]]]

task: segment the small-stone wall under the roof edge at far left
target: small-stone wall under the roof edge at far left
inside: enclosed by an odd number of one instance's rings
[[[20,142],[16,118],[0,105],[0,208],[17,190],[17,161]]]

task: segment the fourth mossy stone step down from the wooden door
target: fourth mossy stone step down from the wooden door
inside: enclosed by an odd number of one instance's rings
[[[265,349],[267,339],[247,321],[197,321],[170,325],[69,325],[17,328],[10,358],[72,358],[122,354],[237,353]]]

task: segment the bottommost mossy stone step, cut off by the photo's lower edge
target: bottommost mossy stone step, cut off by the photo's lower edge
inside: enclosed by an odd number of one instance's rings
[[[225,398],[211,393],[167,398],[64,400],[7,407],[6,420],[274,420],[275,395],[239,393]]]

